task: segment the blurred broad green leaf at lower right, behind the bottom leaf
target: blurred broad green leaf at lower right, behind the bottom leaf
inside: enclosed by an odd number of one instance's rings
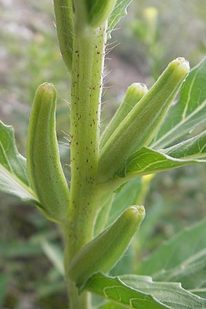
[[[190,229],[181,231],[142,261],[138,268],[138,274],[150,275],[155,279],[161,277],[161,280],[168,279],[167,275],[170,274],[172,279],[172,272],[174,276],[178,276],[176,270],[179,268],[179,279],[183,279],[185,287],[191,289],[202,285],[205,282],[205,234],[206,220],[198,222]],[[185,274],[183,269],[181,271],[183,266],[186,268]]]

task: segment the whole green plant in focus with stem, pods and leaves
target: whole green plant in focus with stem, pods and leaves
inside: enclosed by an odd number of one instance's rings
[[[106,41],[129,3],[54,0],[60,51],[71,73],[71,185],[60,165],[56,90],[45,83],[34,98],[27,161],[12,127],[1,122],[1,190],[34,203],[61,227],[69,308],[91,308],[91,293],[105,299],[101,309],[206,308],[205,221],[163,244],[135,275],[108,276],[144,219],[137,205],[144,175],[206,161],[206,131],[183,140],[205,120],[206,60],[190,71],[187,60],[176,58],[150,90],[132,84],[100,137]],[[117,201],[123,212],[110,223]]]

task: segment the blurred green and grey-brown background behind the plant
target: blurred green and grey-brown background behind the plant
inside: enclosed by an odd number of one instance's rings
[[[131,83],[150,87],[172,59],[185,56],[193,67],[205,56],[205,20],[204,0],[133,0],[108,42],[102,130]],[[16,144],[25,155],[35,89],[42,82],[54,83],[60,154],[69,182],[70,76],[60,58],[52,1],[0,0],[0,27],[1,120],[14,126]],[[143,255],[205,217],[205,175],[205,166],[193,165],[152,179]],[[56,225],[32,205],[0,193],[0,308],[67,308],[61,249]],[[117,270],[124,273],[121,264]]]

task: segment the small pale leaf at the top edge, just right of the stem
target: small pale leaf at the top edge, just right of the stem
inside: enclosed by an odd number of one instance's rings
[[[132,0],[117,0],[115,8],[108,19],[108,38],[111,38],[111,31],[117,25],[119,19],[126,16],[126,8],[131,2]]]

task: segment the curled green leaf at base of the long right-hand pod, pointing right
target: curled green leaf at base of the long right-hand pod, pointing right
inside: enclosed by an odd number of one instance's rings
[[[143,147],[128,158],[126,168],[119,176],[131,178],[171,170],[172,168],[180,168],[187,164],[205,162],[206,160],[176,159],[165,155],[161,151]]]

